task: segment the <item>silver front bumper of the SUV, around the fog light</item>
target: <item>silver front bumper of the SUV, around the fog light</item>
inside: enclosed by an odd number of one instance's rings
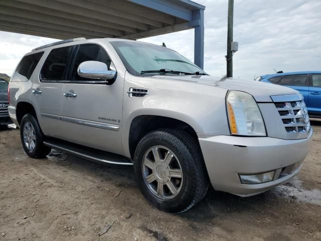
[[[251,196],[287,182],[302,167],[310,143],[306,139],[283,140],[270,137],[199,135],[205,165],[215,190]],[[272,181],[242,184],[239,175],[275,170]]]

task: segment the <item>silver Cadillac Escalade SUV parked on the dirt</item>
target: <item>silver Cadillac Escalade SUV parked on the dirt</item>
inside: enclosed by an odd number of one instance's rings
[[[51,148],[133,165],[143,195],[183,212],[215,190],[250,196],[301,169],[312,129],[302,95],[217,78],[163,46],[73,39],[34,49],[9,112],[32,158]]]

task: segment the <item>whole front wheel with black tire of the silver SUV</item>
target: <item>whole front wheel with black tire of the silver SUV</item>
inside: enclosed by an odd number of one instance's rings
[[[166,155],[173,157],[168,166]],[[181,130],[160,129],[144,136],[135,150],[134,172],[145,198],[165,212],[179,213],[192,208],[204,198],[209,187],[201,150]]]

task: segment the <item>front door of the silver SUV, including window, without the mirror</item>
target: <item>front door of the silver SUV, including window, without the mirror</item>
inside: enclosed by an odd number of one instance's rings
[[[64,139],[80,145],[122,154],[121,117],[123,77],[112,85],[80,77],[77,69],[84,61],[100,61],[113,66],[106,51],[97,44],[77,46],[69,82],[62,87]],[[112,67],[114,68],[114,67]]]

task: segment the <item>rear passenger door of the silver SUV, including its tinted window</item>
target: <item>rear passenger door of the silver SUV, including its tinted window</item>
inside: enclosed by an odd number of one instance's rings
[[[39,80],[33,81],[31,100],[46,136],[62,138],[65,134],[59,121],[63,100],[62,83],[66,80],[74,48],[52,49],[41,68]]]

